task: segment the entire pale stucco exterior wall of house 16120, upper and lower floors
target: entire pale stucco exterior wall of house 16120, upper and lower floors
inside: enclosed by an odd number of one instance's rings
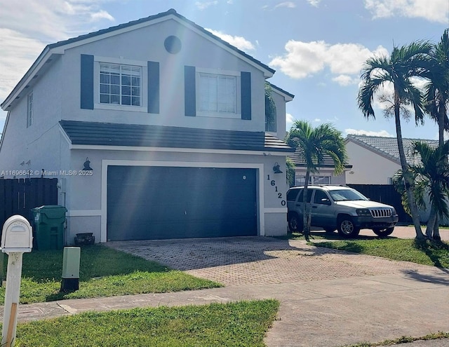
[[[168,53],[163,42],[167,36],[176,35],[182,41],[178,54]],[[59,179],[58,203],[67,207],[67,235],[65,243],[72,244],[76,233],[93,232],[97,242],[106,241],[107,165],[133,162],[136,165],[173,165],[223,168],[254,168],[257,170],[257,221],[261,236],[285,235],[286,226],[286,167],[285,155],[257,152],[234,154],[231,151],[189,149],[123,150],[76,149],[69,143],[58,121],[130,123],[168,125],[186,128],[217,130],[264,131],[264,72],[249,61],[217,46],[199,33],[185,29],[175,20],[156,22],[149,27],[76,46],[61,46],[60,55],[53,55],[46,69],[29,88],[34,93],[34,124],[27,128],[27,97],[21,95],[8,119],[0,149],[1,170],[44,169],[44,177]],[[204,54],[207,52],[207,54]],[[81,54],[94,55],[94,109],[81,109]],[[142,108],[114,108],[98,104],[99,62],[138,64],[142,66]],[[147,62],[159,62],[160,112],[147,113]],[[240,73],[251,74],[251,120],[239,115],[185,116],[185,66],[196,67],[196,72],[236,74],[237,110],[240,104]],[[198,79],[196,79],[198,84]],[[279,138],[285,135],[285,99],[274,94]],[[198,102],[197,102],[198,105]],[[86,157],[91,161],[93,176],[69,175],[83,168]],[[20,166],[30,160],[30,165]],[[282,174],[274,174],[275,163],[281,165]],[[65,173],[64,173],[65,172]],[[268,176],[269,175],[269,176]],[[36,176],[36,175],[34,175]],[[6,177],[8,178],[8,177]],[[274,184],[273,184],[274,181]]]

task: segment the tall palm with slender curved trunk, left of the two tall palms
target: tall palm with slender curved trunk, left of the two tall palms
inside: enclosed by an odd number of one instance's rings
[[[391,107],[387,109],[386,115],[394,114],[396,123],[396,137],[398,142],[399,158],[403,171],[406,192],[410,212],[415,225],[416,237],[424,238],[421,231],[420,217],[417,205],[413,196],[413,177],[408,171],[406,154],[403,147],[401,131],[401,114],[409,116],[406,105],[412,104],[415,110],[415,123],[422,123],[424,109],[422,103],[422,93],[416,88],[411,79],[413,77],[423,77],[427,72],[426,64],[429,60],[429,53],[432,45],[428,41],[418,41],[410,43],[401,48],[394,47],[391,55],[370,57],[364,64],[361,74],[361,87],[358,90],[358,107],[366,118],[375,118],[373,109],[374,95],[382,90],[389,83],[393,84],[394,92],[391,99],[381,96],[382,101],[391,102]]]

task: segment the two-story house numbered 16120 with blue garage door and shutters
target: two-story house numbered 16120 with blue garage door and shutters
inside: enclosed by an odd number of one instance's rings
[[[273,74],[173,9],[53,43],[1,104],[1,168],[58,177],[66,244],[286,234],[293,95],[273,88],[265,132]]]

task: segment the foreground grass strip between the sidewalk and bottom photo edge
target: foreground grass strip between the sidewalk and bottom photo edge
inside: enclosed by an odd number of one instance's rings
[[[264,346],[279,301],[135,308],[27,322],[15,346]]]

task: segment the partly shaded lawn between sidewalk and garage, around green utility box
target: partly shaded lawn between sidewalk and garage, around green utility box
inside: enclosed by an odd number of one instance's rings
[[[48,250],[23,254],[21,304],[221,287],[219,283],[172,270],[154,261],[92,245],[81,248],[79,290],[61,293],[62,252]],[[1,287],[0,304],[4,304],[4,296],[5,287]]]

